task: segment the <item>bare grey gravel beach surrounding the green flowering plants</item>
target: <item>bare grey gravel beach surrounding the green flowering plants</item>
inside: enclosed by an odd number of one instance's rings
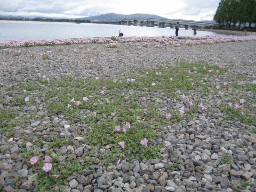
[[[177,42],[182,44],[187,40]],[[207,77],[206,82],[212,85],[238,84],[237,75],[243,76],[243,84],[250,84],[254,89],[239,91],[233,89],[232,95],[238,99],[246,97],[247,103],[254,110],[251,111],[252,124],[245,124],[238,118],[225,119],[218,110],[223,102],[228,102],[229,96],[224,90],[216,95],[204,95],[200,88],[196,91],[184,93],[186,98],[176,100],[156,92],[146,100],[161,103],[156,109],[160,114],[168,110],[177,110],[182,106],[189,107],[192,98],[200,98],[206,106],[207,112],[196,113],[194,118],[184,118],[181,122],[164,125],[159,131],[156,143],[170,142],[171,146],[162,148],[162,158],[149,160],[120,160],[108,165],[95,164],[87,169],[86,174],[75,174],[67,178],[62,186],[52,186],[50,191],[61,192],[256,192],[256,40],[238,42],[220,42],[212,44],[192,44],[190,46],[160,46],[143,47],[143,42],[118,43],[117,48],[107,48],[107,44],[71,44],[63,45],[63,51],[58,46],[49,48],[43,46],[22,47],[15,49],[0,49],[0,110],[13,109],[18,114],[26,116],[34,114],[14,127],[14,134],[0,134],[0,186],[4,192],[32,192],[37,190],[36,178],[32,166],[22,157],[23,150],[30,150],[36,145],[36,139],[26,139],[29,136],[68,135],[70,139],[83,140],[74,130],[74,126],[85,126],[79,118],[65,119],[63,114],[52,116],[44,104],[38,102],[38,92],[35,90],[35,103],[27,106],[24,102],[16,106],[14,98],[20,97],[18,82],[29,84],[42,76],[62,78],[94,78],[113,76],[122,78],[125,74],[132,74],[142,69],[159,68],[162,66],[176,66],[179,62],[196,63],[204,61],[210,65],[228,68],[218,78]],[[41,54],[49,51],[50,58],[43,59]],[[16,50],[16,52],[14,52]],[[18,51],[20,50],[20,51]],[[119,51],[117,51],[119,50]],[[35,53],[33,53],[35,52]],[[31,55],[34,54],[33,57]],[[193,69],[193,65],[192,69]],[[216,73],[216,72],[215,72]],[[196,88],[195,88],[196,89]],[[214,87],[209,87],[214,90]],[[27,90],[21,90],[23,93]],[[175,90],[178,92],[178,90]],[[131,91],[132,92],[132,91]],[[134,93],[136,94],[136,93]],[[181,94],[182,95],[182,94]],[[239,101],[239,100],[238,100]],[[139,102],[139,101],[138,101]],[[249,104],[248,104],[249,105]],[[42,115],[46,113],[46,115]],[[90,113],[90,112],[88,112]],[[214,114],[216,118],[208,116]],[[219,113],[219,115],[217,115]],[[113,114],[114,116],[114,114]],[[218,116],[218,118],[217,118]],[[152,117],[153,118],[153,117]],[[156,119],[151,119],[156,121]],[[55,124],[54,128],[47,128]],[[0,124],[1,126],[1,124]],[[2,127],[3,128],[3,127]],[[49,146],[40,149],[44,153]],[[102,150],[109,150],[110,146],[103,146]],[[92,147],[87,144],[81,146],[59,146],[64,158],[65,154],[72,154],[76,158],[90,154]],[[225,154],[225,156],[223,155]],[[97,157],[97,156],[96,156]],[[228,158],[230,157],[230,158]],[[224,163],[222,163],[224,158]],[[180,168],[174,166],[180,160]],[[228,160],[232,159],[232,162]],[[75,171],[75,170],[74,170]],[[18,178],[15,180],[15,178]],[[15,182],[14,182],[15,180]],[[234,186],[230,182],[240,181],[242,187]]]

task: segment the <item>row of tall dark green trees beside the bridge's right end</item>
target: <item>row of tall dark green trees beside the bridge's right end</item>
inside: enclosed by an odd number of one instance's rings
[[[252,23],[256,23],[256,0],[220,0],[213,19],[219,24],[233,24],[234,27],[239,22],[239,28],[248,22],[250,28]]]

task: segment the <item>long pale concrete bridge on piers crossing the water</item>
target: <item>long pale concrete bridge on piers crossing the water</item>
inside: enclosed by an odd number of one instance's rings
[[[104,20],[104,21],[94,21],[94,23],[100,24],[114,24],[114,25],[128,25],[131,26],[133,22],[134,26],[144,26],[144,22],[147,27],[154,27],[155,22],[158,22],[158,27],[164,28],[166,24],[176,24],[179,22],[180,25],[184,25],[185,29],[188,29],[188,26],[205,27],[210,25],[216,25],[215,23],[206,23],[206,22],[196,22],[196,21],[183,21],[183,20],[172,20],[172,19],[151,19],[151,18],[125,18],[118,20]]]

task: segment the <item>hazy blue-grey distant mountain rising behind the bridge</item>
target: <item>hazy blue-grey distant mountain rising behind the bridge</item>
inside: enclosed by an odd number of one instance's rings
[[[167,19],[165,17],[160,17],[158,15],[152,15],[152,14],[130,14],[130,15],[123,15],[123,14],[115,14],[115,13],[108,13],[103,15],[97,15],[97,16],[89,16],[89,17],[83,17],[79,19],[89,19],[89,20],[118,20],[118,19],[125,19],[125,18],[152,18],[152,19]]]

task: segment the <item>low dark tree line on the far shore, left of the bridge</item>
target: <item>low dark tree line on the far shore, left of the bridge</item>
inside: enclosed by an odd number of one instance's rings
[[[90,23],[91,21],[86,19],[52,19],[52,18],[33,18],[33,19],[22,19],[22,18],[0,18],[0,20],[18,20],[18,21],[49,21],[49,22],[75,22],[75,23]]]

